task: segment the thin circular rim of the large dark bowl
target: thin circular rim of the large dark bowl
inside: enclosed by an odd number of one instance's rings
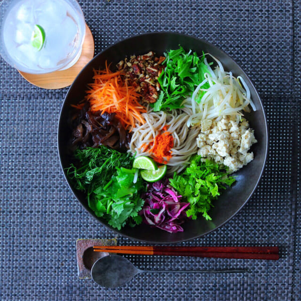
[[[119,230],[113,228],[112,226],[102,222],[97,216],[95,216],[95,214],[93,214],[92,212],[90,212],[85,206],[84,204],[79,200],[79,198],[76,196],[76,193],[75,193],[75,189],[72,188],[71,186],[71,183],[69,182],[66,174],[65,174],[65,171],[64,171],[64,168],[63,168],[63,164],[62,164],[62,156],[61,156],[61,153],[60,153],[60,143],[59,143],[59,135],[60,135],[60,125],[61,125],[61,122],[62,122],[62,111],[63,111],[63,108],[65,106],[65,102],[66,102],[66,99],[68,97],[68,94],[70,93],[71,89],[73,88],[73,85],[74,83],[77,81],[77,79],[81,76],[82,72],[84,71],[84,69],[89,65],[91,64],[95,59],[96,57],[100,56],[103,52],[109,50],[111,47],[119,44],[119,43],[122,43],[122,42],[125,42],[127,40],[131,40],[131,39],[134,39],[134,38],[139,38],[139,37],[143,37],[143,36],[150,36],[150,35],[176,35],[176,36],[182,36],[182,37],[187,37],[187,38],[192,38],[194,40],[196,40],[197,42],[202,42],[204,44],[207,44],[208,46],[210,47],[213,47],[213,48],[216,48],[218,51],[220,51],[221,53],[223,53],[225,56],[227,56],[231,61],[232,63],[234,63],[235,65],[237,65],[239,67],[239,69],[242,71],[242,74],[243,76],[249,81],[250,85],[252,86],[258,100],[259,100],[259,104],[260,104],[260,107],[261,107],[261,111],[262,111],[262,114],[263,114],[263,119],[264,119],[264,127],[263,128],[263,131],[265,133],[265,149],[263,149],[264,151],[264,159],[263,159],[263,163],[262,163],[262,167],[261,167],[261,171],[260,171],[260,174],[258,176],[258,179],[252,189],[252,191],[249,193],[248,197],[246,198],[246,200],[244,201],[244,203],[240,206],[240,208],[238,208],[237,211],[235,211],[231,216],[229,216],[229,218],[227,218],[224,222],[222,222],[221,224],[219,224],[218,226],[216,226],[214,229],[210,229],[200,235],[195,235],[195,236],[192,236],[192,237],[189,237],[189,238],[185,238],[185,239],[179,239],[179,240],[172,240],[172,241],[167,241],[167,242],[162,242],[162,241],[156,241],[156,240],[146,240],[146,239],[138,239],[138,238],[135,238],[131,235],[128,235],[128,234],[124,234],[124,233],[121,233]],[[124,38],[122,40],[118,40],[117,42],[114,42],[112,43],[111,45],[107,46],[106,48],[104,48],[102,51],[100,51],[99,53],[97,53],[84,67],[83,69],[80,71],[80,73],[76,76],[76,78],[74,79],[73,83],[70,85],[70,87],[68,88],[68,91],[64,97],[64,100],[63,100],[63,103],[62,103],[62,106],[61,106],[61,110],[60,110],[60,114],[59,114],[59,122],[58,122],[58,128],[57,128],[57,150],[58,150],[58,155],[59,155],[59,161],[60,161],[60,166],[61,166],[61,169],[62,169],[62,172],[63,172],[63,175],[64,175],[64,178],[65,180],[67,181],[67,184],[69,186],[69,188],[71,189],[72,193],[73,193],[73,196],[77,199],[77,201],[81,204],[81,206],[90,214],[93,216],[93,218],[98,222],[100,223],[101,225],[109,228],[110,230],[112,230],[113,232],[115,232],[116,234],[118,235],[121,235],[121,236],[124,236],[126,238],[129,238],[129,239],[133,239],[135,241],[140,241],[140,242],[146,242],[146,243],[154,243],[154,244],[173,244],[173,243],[180,243],[180,242],[185,242],[185,241],[191,241],[193,239],[196,239],[196,238],[200,238],[200,237],[203,237],[213,231],[216,231],[217,229],[219,229],[220,227],[222,227],[223,225],[225,225],[226,223],[228,223],[235,215],[238,214],[239,211],[242,210],[242,208],[247,204],[247,202],[250,200],[250,198],[252,197],[252,195],[254,194],[255,190],[257,189],[258,187],[258,184],[262,178],[262,175],[264,173],[264,170],[265,170],[265,165],[266,165],[266,161],[267,161],[267,156],[268,156],[268,149],[269,149],[269,145],[268,145],[268,125],[267,125],[267,119],[266,119],[266,114],[265,114],[265,110],[264,110],[264,107],[263,107],[263,104],[262,104],[262,100],[259,96],[259,93],[257,91],[257,89],[255,88],[255,85],[253,83],[253,81],[249,78],[249,76],[246,74],[246,72],[244,71],[244,69],[227,53],[225,52],[224,50],[222,50],[221,48],[219,48],[218,46],[215,46],[214,44],[208,42],[207,40],[204,40],[204,39],[200,39],[200,38],[197,38],[195,37],[194,35],[187,35],[187,34],[183,34],[183,33],[178,33],[178,32],[172,32],[172,31],[156,31],[156,32],[146,32],[146,33],[143,33],[143,34],[139,34],[139,35],[132,35],[132,36],[129,36],[127,38]],[[174,234],[174,233],[171,233],[171,234]]]

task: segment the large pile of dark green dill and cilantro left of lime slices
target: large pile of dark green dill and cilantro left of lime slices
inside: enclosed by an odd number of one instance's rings
[[[145,184],[138,177],[133,183],[136,169],[131,169],[134,157],[117,150],[99,148],[78,149],[75,158],[78,167],[71,165],[67,175],[75,188],[87,193],[89,207],[96,216],[104,218],[118,230],[129,223],[139,224],[138,216]]]

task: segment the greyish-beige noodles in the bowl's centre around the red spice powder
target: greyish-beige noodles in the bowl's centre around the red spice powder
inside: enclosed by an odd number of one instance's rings
[[[197,127],[189,128],[187,121],[192,115],[192,109],[184,108],[171,110],[166,113],[163,111],[153,112],[148,109],[142,117],[145,123],[135,124],[132,129],[132,138],[129,149],[132,154],[138,156],[150,156],[152,154],[145,149],[145,145],[152,143],[155,137],[160,134],[165,126],[174,137],[174,147],[171,149],[172,158],[167,162],[167,173],[172,175],[174,172],[181,172],[189,163],[190,157],[197,153],[197,136],[200,129]]]

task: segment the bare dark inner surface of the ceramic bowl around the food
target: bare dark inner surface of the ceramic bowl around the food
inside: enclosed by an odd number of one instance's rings
[[[70,164],[70,156],[67,154],[66,143],[71,134],[67,125],[70,105],[76,104],[83,99],[87,84],[93,81],[93,68],[104,68],[105,60],[112,62],[112,66],[115,66],[121,59],[132,54],[144,54],[153,50],[157,55],[160,55],[169,49],[178,48],[179,45],[183,46],[186,50],[192,49],[199,55],[202,54],[202,51],[212,54],[222,62],[225,70],[231,70],[234,76],[241,75],[249,86],[251,98],[256,106],[255,112],[252,111],[246,114],[246,118],[250,126],[255,130],[255,137],[258,140],[258,143],[252,146],[254,160],[235,174],[237,177],[236,183],[224,191],[218,200],[214,202],[214,208],[210,211],[211,221],[206,221],[202,217],[194,221],[187,221],[183,226],[184,232],[179,233],[168,233],[158,228],[150,228],[147,225],[139,225],[134,228],[124,227],[120,231],[117,231],[104,220],[94,215],[92,210],[88,207],[84,194],[76,191],[66,177],[65,169]],[[191,36],[177,33],[151,33],[118,42],[96,55],[90,63],[85,66],[69,88],[63,103],[58,127],[58,149],[61,166],[71,190],[83,207],[99,222],[121,235],[139,241],[148,243],[173,243],[197,238],[217,229],[229,221],[250,199],[262,175],[266,160],[267,125],[262,103],[252,82],[237,63],[225,52],[204,40],[199,40]]]

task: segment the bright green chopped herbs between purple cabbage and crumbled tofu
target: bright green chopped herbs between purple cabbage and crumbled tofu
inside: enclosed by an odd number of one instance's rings
[[[209,160],[202,162],[201,156],[192,158],[183,174],[175,173],[170,179],[170,185],[190,203],[187,216],[196,219],[202,213],[206,220],[211,220],[208,211],[213,207],[212,201],[220,195],[220,189],[234,182],[234,177],[230,177],[224,167]]]

